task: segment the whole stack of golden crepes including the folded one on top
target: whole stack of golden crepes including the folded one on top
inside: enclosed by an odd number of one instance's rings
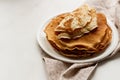
[[[104,14],[83,5],[60,14],[45,28],[47,40],[60,54],[70,58],[90,58],[110,44],[112,30]]]

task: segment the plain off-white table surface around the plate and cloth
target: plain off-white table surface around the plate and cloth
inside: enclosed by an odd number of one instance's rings
[[[84,0],[0,0],[0,80],[47,80],[36,34],[49,18]],[[120,80],[120,54],[98,65],[91,80]]]

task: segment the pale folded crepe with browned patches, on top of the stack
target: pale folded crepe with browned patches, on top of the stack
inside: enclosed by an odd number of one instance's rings
[[[55,28],[59,39],[76,39],[97,27],[97,15],[94,8],[83,5],[69,12]]]

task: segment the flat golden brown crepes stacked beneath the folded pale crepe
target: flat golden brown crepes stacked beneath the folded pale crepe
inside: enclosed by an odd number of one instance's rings
[[[59,40],[54,32],[56,26],[68,13],[53,18],[45,28],[50,44],[62,55],[72,58],[92,57],[103,51],[111,41],[111,29],[103,14],[97,14],[98,28],[78,39]]]

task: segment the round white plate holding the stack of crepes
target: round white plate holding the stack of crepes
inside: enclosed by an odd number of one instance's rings
[[[40,47],[51,57],[54,57],[58,60],[62,60],[65,62],[70,62],[70,63],[83,63],[83,62],[96,62],[96,61],[100,61],[104,58],[106,58],[108,55],[110,55],[112,53],[112,51],[117,47],[118,41],[119,41],[119,37],[118,37],[118,31],[116,29],[116,27],[112,24],[112,22],[110,22],[109,20],[107,20],[108,25],[111,27],[112,29],[112,41],[111,44],[107,47],[107,49],[100,54],[99,56],[93,57],[93,58],[89,58],[89,59],[72,59],[72,58],[67,58],[62,56],[61,54],[59,54],[59,52],[57,52],[48,42],[48,40],[46,39],[46,34],[44,33],[44,28],[46,27],[46,25],[48,24],[48,22],[41,26],[38,34],[37,34],[37,41],[40,45]]]

